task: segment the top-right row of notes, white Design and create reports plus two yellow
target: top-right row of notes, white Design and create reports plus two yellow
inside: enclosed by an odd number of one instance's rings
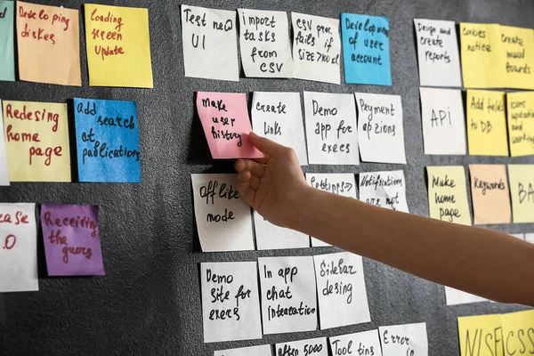
[[[423,86],[462,86],[454,21],[415,19]],[[460,23],[466,88],[534,89],[534,30]]]

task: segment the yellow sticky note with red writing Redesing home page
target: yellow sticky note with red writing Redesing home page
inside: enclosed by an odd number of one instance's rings
[[[67,104],[3,101],[11,182],[70,182]]]

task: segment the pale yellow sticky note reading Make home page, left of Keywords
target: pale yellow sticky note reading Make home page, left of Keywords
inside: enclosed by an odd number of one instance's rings
[[[471,225],[463,166],[429,166],[428,205],[430,217],[449,223]]]

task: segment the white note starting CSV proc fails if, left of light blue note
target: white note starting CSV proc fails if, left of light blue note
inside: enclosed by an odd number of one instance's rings
[[[295,78],[341,83],[339,20],[291,12]]]

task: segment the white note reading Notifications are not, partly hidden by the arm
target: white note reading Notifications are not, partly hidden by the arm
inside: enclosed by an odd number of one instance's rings
[[[409,213],[403,171],[360,173],[360,200]]]

